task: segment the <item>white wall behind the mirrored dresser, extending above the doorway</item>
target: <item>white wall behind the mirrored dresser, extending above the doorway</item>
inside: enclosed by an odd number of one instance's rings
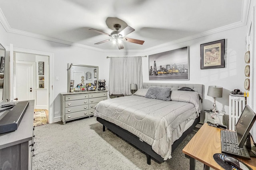
[[[54,112],[60,112],[59,93],[67,92],[68,63],[99,66],[98,78],[108,81],[109,64],[106,63],[108,63],[109,60],[106,59],[106,55],[104,55],[102,52],[64,45],[61,43],[27,37],[14,33],[7,33],[2,25],[0,25],[0,42],[4,47],[8,47],[10,44],[13,44],[14,48],[54,53]],[[55,80],[56,76],[59,77],[58,81]]]

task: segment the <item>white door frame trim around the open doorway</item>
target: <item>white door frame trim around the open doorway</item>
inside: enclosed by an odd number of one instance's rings
[[[54,98],[53,98],[53,94],[54,94],[54,90],[53,90],[53,82],[54,82],[54,53],[49,53],[49,52],[45,52],[45,51],[37,51],[37,50],[31,50],[31,49],[23,49],[23,48],[16,48],[13,47],[12,44],[10,44],[10,47],[7,47],[6,49],[8,49],[8,51],[10,51],[10,53],[13,52],[17,52],[17,53],[30,53],[30,54],[34,54],[34,55],[44,55],[44,56],[48,56],[49,57],[49,76],[48,76],[48,84],[49,84],[49,103],[48,103],[48,111],[49,111],[49,123],[54,123]],[[10,61],[11,63],[11,61]],[[12,61],[13,63],[13,61]]]

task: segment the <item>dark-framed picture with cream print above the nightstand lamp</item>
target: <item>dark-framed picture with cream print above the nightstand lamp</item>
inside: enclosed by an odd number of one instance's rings
[[[201,69],[225,67],[225,39],[201,44]]]

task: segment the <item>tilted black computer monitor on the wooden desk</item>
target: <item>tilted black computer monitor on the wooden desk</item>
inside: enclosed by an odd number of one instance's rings
[[[249,131],[255,120],[256,114],[248,105],[246,105],[235,127],[238,147],[242,148],[247,139],[249,140],[248,142],[250,142]]]

